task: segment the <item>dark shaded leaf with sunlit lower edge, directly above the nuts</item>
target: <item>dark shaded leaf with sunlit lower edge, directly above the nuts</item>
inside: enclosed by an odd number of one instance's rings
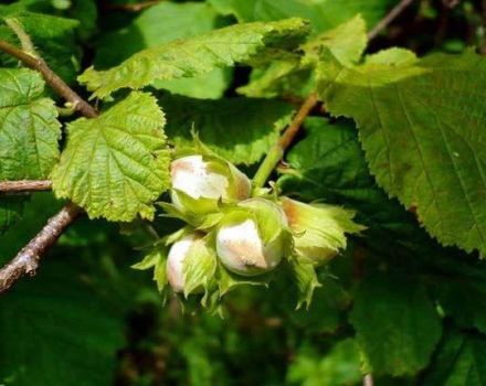
[[[167,95],[159,103],[168,117],[167,136],[177,148],[193,146],[194,130],[215,153],[245,164],[266,154],[294,111],[283,101],[267,99],[198,100]]]

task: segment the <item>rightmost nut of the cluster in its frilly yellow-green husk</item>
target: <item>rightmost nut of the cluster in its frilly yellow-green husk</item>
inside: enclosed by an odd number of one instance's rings
[[[294,248],[298,256],[314,264],[326,264],[346,248],[345,233],[364,229],[352,222],[355,213],[335,205],[304,204],[282,197],[282,207],[294,232]]]

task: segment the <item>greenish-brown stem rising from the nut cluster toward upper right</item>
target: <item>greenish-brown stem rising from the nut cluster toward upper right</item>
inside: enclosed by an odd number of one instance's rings
[[[315,93],[311,93],[309,97],[304,100],[290,125],[284,131],[278,141],[270,149],[268,153],[256,171],[256,174],[253,178],[254,189],[262,187],[265,184],[266,180],[272,174],[282,157],[284,157],[285,150],[290,146],[292,141],[300,129],[302,124],[309,115],[311,109],[317,105],[317,101],[318,99]]]

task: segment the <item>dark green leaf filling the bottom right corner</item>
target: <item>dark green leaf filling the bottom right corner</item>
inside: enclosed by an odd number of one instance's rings
[[[486,337],[450,329],[424,376],[424,386],[486,384]]]

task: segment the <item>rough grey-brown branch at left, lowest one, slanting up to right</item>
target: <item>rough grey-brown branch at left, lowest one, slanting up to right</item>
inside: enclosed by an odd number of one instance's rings
[[[72,203],[51,217],[39,234],[25,245],[13,260],[0,269],[0,293],[7,291],[24,275],[34,275],[42,255],[83,212]]]

